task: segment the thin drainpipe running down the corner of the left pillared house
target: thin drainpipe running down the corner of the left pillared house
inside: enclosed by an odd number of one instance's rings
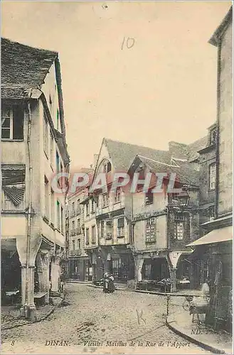
[[[29,270],[29,257],[30,257],[30,239],[31,239],[31,214],[32,214],[32,194],[33,194],[33,184],[32,184],[32,158],[31,158],[31,104],[28,101],[28,185],[29,185],[29,196],[28,196],[28,231],[27,231],[27,247],[26,247],[26,315],[28,313],[28,270]]]

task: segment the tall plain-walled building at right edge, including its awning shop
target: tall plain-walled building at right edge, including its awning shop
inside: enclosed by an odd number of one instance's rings
[[[207,196],[214,200],[215,214],[211,220],[201,224],[203,229],[201,239],[190,244],[195,249],[193,257],[201,260],[205,276],[210,280],[211,300],[206,322],[212,324],[215,329],[221,327],[229,331],[232,331],[233,317],[228,311],[233,285],[232,35],[233,6],[209,40],[209,43],[216,45],[218,52],[216,153],[213,152],[213,148],[208,147],[201,152],[201,159],[203,153],[208,154],[209,151],[212,165],[214,165],[213,161],[216,164],[213,179],[211,173],[208,177],[212,191],[207,191]],[[201,161],[201,167],[202,165]]]

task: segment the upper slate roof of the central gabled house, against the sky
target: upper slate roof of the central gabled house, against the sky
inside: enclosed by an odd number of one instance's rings
[[[144,155],[164,163],[170,163],[171,161],[169,151],[159,151],[135,144],[112,141],[112,139],[109,138],[104,138],[104,142],[107,145],[115,170],[127,172],[136,155]]]

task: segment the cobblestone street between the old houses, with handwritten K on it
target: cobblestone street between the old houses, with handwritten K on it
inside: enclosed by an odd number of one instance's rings
[[[82,284],[66,284],[65,293],[68,304],[47,320],[2,331],[2,353],[209,354],[166,327],[164,296]]]

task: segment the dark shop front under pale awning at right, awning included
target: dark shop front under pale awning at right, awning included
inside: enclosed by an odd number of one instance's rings
[[[233,293],[233,233],[232,227],[214,229],[190,246],[195,249],[196,261],[200,255],[199,283],[208,279],[210,302],[206,323],[214,329],[230,331]]]

